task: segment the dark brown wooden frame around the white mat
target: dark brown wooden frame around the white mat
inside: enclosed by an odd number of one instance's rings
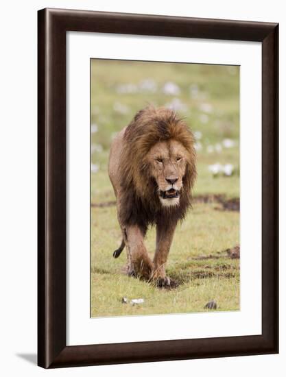
[[[66,32],[262,42],[262,335],[66,345]],[[278,353],[278,24],[38,11],[38,365]]]

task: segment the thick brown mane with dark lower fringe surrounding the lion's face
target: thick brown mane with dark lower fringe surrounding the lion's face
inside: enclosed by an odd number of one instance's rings
[[[145,156],[153,145],[170,139],[187,149],[187,167],[182,179],[180,205],[163,207]],[[139,111],[126,128],[120,176],[122,197],[119,217],[123,224],[138,225],[146,232],[149,225],[165,226],[184,219],[191,206],[191,189],[196,177],[194,138],[186,123],[166,108],[148,107]]]

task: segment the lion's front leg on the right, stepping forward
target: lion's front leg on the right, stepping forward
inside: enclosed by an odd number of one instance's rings
[[[158,224],[156,228],[156,252],[153,261],[152,278],[156,280],[159,287],[170,285],[170,279],[166,276],[165,267],[175,229],[176,224],[167,227]]]

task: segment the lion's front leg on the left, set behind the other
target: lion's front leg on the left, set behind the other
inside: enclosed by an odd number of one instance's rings
[[[125,228],[128,247],[128,274],[150,279],[153,263],[144,245],[144,234],[138,226]]]

